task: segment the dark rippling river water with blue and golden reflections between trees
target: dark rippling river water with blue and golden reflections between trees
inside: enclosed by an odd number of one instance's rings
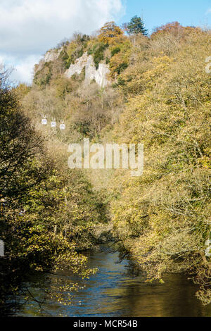
[[[98,268],[98,273],[89,280],[80,281],[86,285],[76,292],[72,305],[46,304],[44,311],[39,305],[27,301],[14,316],[68,316],[68,317],[211,317],[211,305],[203,306],[195,296],[197,287],[184,275],[168,275],[165,284],[149,285],[141,275],[134,275],[127,260],[118,263],[118,253],[101,251],[89,254],[89,266]],[[48,278],[49,287],[61,277]],[[63,274],[63,282],[69,280]],[[30,286],[30,283],[28,284]],[[44,290],[31,289],[36,299],[44,297]],[[65,294],[64,294],[65,295]]]

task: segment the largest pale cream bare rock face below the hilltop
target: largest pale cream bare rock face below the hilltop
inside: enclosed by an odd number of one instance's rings
[[[98,69],[96,69],[93,57],[91,55],[87,55],[87,52],[83,54],[82,57],[77,58],[75,64],[71,64],[70,68],[65,71],[65,76],[70,78],[72,75],[79,75],[82,73],[82,70],[85,68],[85,84],[89,85],[92,80],[95,80],[96,83],[105,87],[109,85],[110,82],[108,80],[108,73],[110,70],[108,65],[104,63],[100,63]]]

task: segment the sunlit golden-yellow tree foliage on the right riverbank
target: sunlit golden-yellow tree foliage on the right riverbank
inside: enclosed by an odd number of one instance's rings
[[[114,127],[115,139],[143,142],[145,160],[139,180],[117,172],[112,179],[119,187],[111,209],[114,233],[149,281],[162,282],[166,271],[202,269],[198,254],[210,233],[207,37],[200,34],[198,46],[195,38],[174,57],[144,51],[145,62],[143,56],[135,57],[120,76],[128,103]]]

